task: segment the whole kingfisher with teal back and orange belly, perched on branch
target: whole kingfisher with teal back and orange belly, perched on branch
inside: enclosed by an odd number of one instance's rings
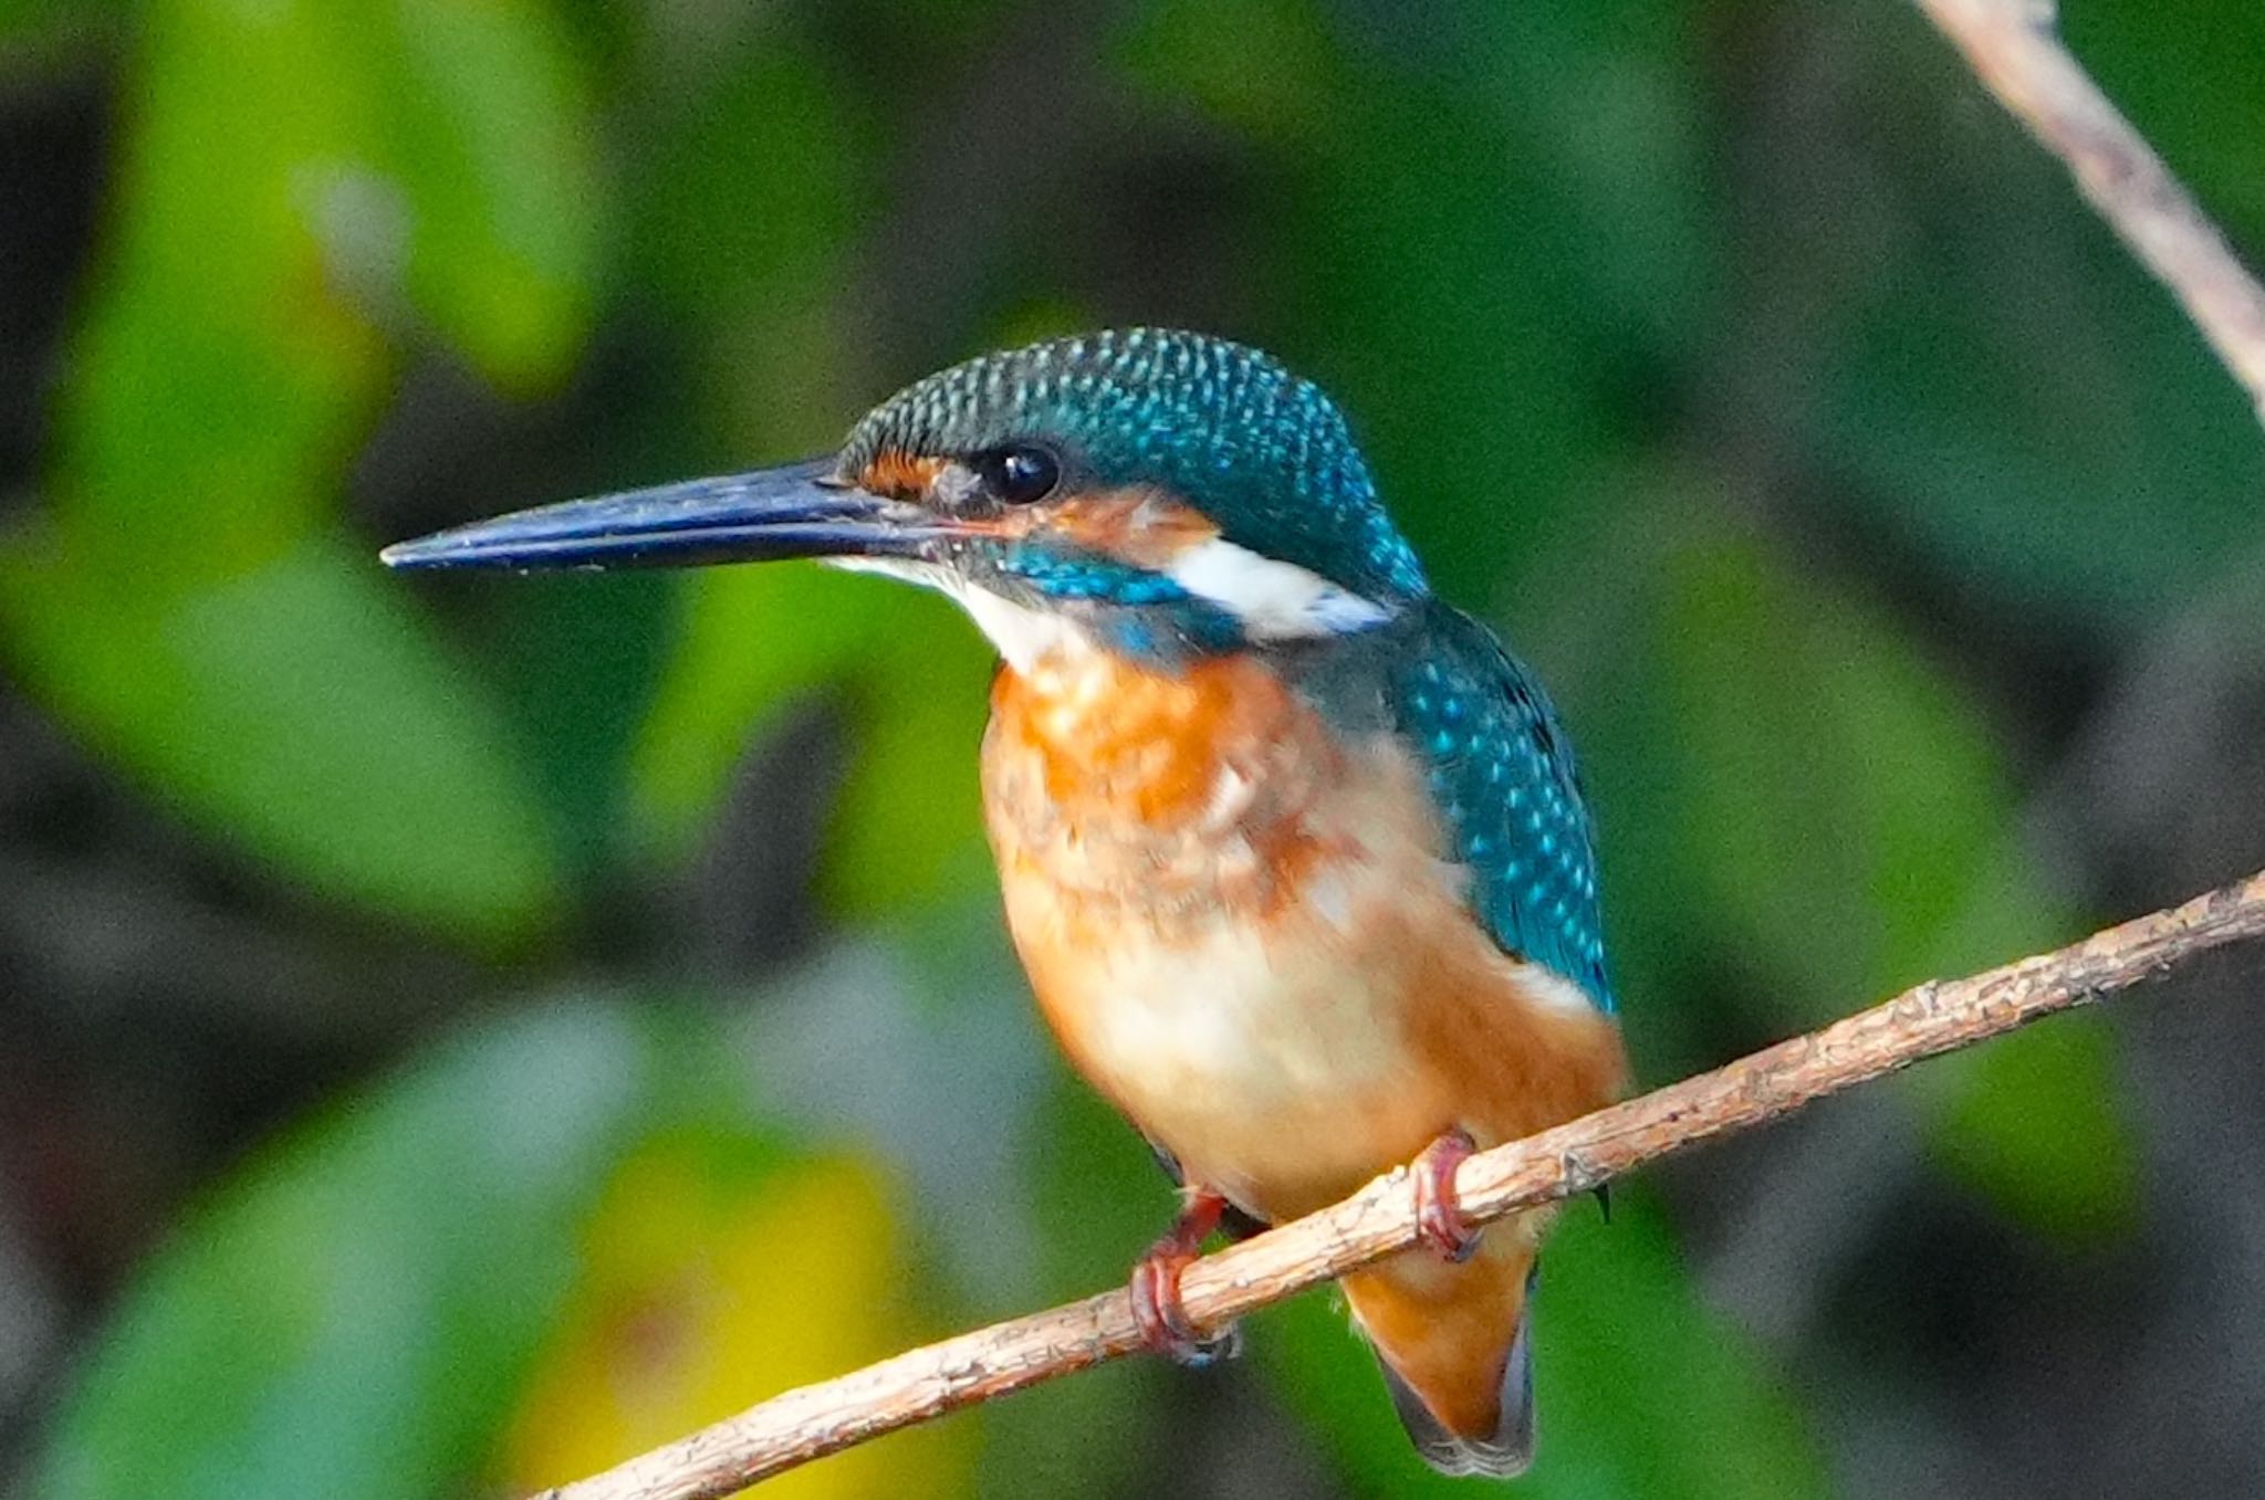
[[[1345,1303],[1427,1464],[1522,1473],[1549,1210],[1481,1235],[1454,1170],[1626,1086],[1592,824],[1540,683],[1434,597],[1336,403],[1198,333],[1065,337],[929,376],[818,459],[383,552],[770,559],[938,588],[999,652],[981,783],[1015,948],[1180,1186],[1130,1278],[1148,1344],[1219,1351],[1180,1305],[1214,1231],[1407,1165],[1422,1244]]]

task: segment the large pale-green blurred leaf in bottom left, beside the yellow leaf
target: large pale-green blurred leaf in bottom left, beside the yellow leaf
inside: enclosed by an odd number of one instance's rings
[[[455,1493],[573,1287],[575,1224],[670,1086],[623,1011],[559,1005],[260,1154],[127,1294],[32,1493]]]

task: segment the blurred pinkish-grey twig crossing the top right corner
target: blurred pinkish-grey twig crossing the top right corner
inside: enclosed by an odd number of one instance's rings
[[[2068,163],[2084,197],[2186,305],[2265,421],[2265,287],[2061,45],[2052,0],[1918,0],[1918,9],[2029,133]]]

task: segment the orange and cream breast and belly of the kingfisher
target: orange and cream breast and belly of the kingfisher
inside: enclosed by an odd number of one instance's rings
[[[990,837],[1040,1009],[1189,1181],[1318,1208],[1450,1127],[1481,1145],[1622,1081],[1610,1020],[1506,957],[1388,735],[1253,658],[1001,672]]]

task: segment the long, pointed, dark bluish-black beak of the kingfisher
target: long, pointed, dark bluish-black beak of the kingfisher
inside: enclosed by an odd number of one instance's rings
[[[401,541],[387,568],[691,568],[781,557],[924,557],[949,532],[834,475],[834,459],[689,480]]]

